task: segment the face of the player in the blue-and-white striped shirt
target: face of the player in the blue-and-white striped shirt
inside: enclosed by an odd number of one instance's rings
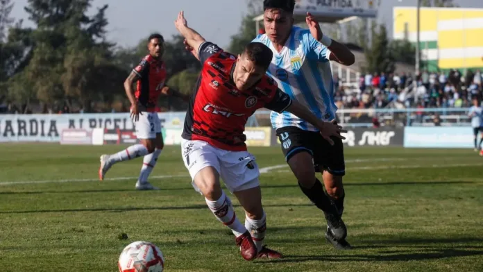
[[[278,9],[267,9],[264,12],[263,25],[265,33],[271,40],[278,44],[285,42],[289,37],[294,18],[289,12]]]

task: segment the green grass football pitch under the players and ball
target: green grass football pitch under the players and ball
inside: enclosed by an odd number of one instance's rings
[[[0,271],[115,272],[138,240],[160,247],[165,271],[483,271],[483,158],[471,149],[346,148],[355,248],[339,251],[280,148],[249,148],[262,171],[265,242],[285,257],[246,262],[192,188],[179,146],[151,175],[160,191],[135,191],[141,158],[99,182],[99,155],[122,147],[0,144]]]

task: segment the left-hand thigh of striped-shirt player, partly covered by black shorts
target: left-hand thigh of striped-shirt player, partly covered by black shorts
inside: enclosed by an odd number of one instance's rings
[[[314,182],[315,172],[313,163],[314,142],[311,133],[300,128],[287,127],[277,130],[282,152],[291,171],[299,182]]]

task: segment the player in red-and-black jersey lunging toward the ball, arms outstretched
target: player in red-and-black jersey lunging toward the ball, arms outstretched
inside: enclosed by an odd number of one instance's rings
[[[185,167],[192,185],[223,225],[235,235],[245,260],[277,259],[280,253],[263,246],[266,215],[262,207],[260,171],[246,148],[245,124],[255,110],[287,110],[318,128],[321,139],[344,138],[340,126],[321,121],[305,107],[292,101],[266,75],[272,53],[259,42],[246,45],[233,56],[216,44],[207,42],[187,26],[183,12],[175,26],[187,49],[201,61],[202,70],[185,118],[181,144]],[[245,210],[245,225],[235,215],[230,198],[221,189],[220,177]],[[326,205],[330,205],[327,199]]]

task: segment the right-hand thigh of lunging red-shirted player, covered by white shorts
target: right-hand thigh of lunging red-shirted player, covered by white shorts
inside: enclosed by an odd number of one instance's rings
[[[248,151],[221,151],[220,175],[230,192],[260,186],[260,170],[255,157]]]

